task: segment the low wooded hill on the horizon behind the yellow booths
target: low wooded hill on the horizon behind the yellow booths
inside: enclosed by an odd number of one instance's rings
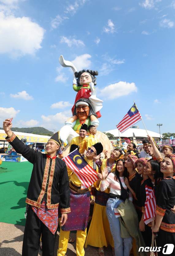
[[[3,128],[0,128],[0,130],[3,130]],[[13,132],[33,133],[33,134],[40,134],[40,135],[47,135],[47,136],[53,135],[53,132],[51,132],[43,127],[29,127],[29,128],[12,127],[12,131]]]

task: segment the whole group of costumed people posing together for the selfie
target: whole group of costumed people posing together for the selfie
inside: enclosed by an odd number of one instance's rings
[[[74,242],[70,236],[73,230],[77,230],[77,256],[85,255],[87,245],[97,247],[100,256],[105,255],[104,247],[108,245],[113,256],[150,255],[149,250],[139,248],[151,247],[152,234],[158,255],[164,255],[164,245],[175,244],[175,155],[171,147],[163,147],[163,158],[154,139],[148,136],[143,140],[144,151],[139,153],[130,142],[126,152],[114,148],[108,158],[95,137],[96,127],[82,124],[79,136],[70,143],[70,152],[78,149],[98,178],[92,186],[83,188],[78,176],[61,160],[59,132],[49,139],[46,154],[42,154],[17,138],[9,120],[3,123],[6,140],[33,164],[26,198],[23,256],[37,256],[39,245],[43,256],[53,256],[59,224],[58,256],[64,256],[68,242]],[[102,152],[104,159],[100,157]],[[145,224],[151,192],[156,198],[156,218],[152,222],[147,218]],[[175,250],[169,255],[175,255]]]

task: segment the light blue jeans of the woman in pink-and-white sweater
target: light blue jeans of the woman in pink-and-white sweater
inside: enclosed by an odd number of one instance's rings
[[[123,200],[109,198],[106,204],[106,215],[108,217],[110,230],[114,239],[115,256],[129,256],[132,249],[132,237],[121,238],[120,221],[116,218],[114,208],[117,208]]]

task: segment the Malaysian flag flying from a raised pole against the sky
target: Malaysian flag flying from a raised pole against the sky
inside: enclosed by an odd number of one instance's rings
[[[136,124],[142,119],[139,110],[137,109],[135,103],[130,108],[130,110],[127,112],[127,114],[124,116],[122,121],[117,125],[117,129],[123,133],[127,129],[129,129],[131,126]]]

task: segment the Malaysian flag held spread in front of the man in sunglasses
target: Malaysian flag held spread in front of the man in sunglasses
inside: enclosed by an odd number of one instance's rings
[[[77,175],[82,183],[82,189],[90,187],[97,181],[97,172],[85,161],[77,149],[62,158],[62,160]]]

